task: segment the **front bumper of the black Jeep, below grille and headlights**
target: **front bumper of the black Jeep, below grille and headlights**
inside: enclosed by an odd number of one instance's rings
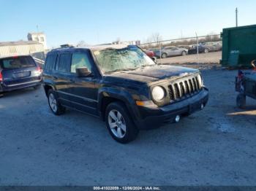
[[[167,106],[139,106],[140,119],[135,124],[140,130],[158,128],[164,122],[174,122],[177,115],[192,114],[200,110],[201,105],[206,106],[207,101],[208,89],[204,87],[200,93]]]

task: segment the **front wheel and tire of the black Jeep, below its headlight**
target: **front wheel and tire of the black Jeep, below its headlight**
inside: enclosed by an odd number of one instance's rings
[[[138,136],[138,128],[132,121],[126,106],[121,102],[108,105],[105,122],[110,135],[121,144],[129,143]]]

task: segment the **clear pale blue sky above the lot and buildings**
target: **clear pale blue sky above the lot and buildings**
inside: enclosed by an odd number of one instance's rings
[[[219,34],[222,28],[256,24],[255,0],[0,0],[0,42],[26,40],[44,31],[48,47],[121,40],[145,41],[158,32],[162,39]]]

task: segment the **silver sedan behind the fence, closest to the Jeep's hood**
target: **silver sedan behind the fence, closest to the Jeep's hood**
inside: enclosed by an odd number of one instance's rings
[[[157,50],[154,52],[157,58],[167,58],[169,56],[175,55],[187,55],[188,50],[186,48],[179,48],[179,47],[164,47],[162,50]],[[161,55],[160,55],[161,54]]]

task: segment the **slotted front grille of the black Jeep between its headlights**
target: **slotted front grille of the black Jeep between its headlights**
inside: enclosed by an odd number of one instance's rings
[[[197,93],[201,88],[202,87],[200,87],[198,77],[192,77],[181,82],[168,85],[170,100],[176,101],[177,99],[181,99],[185,96],[193,95],[194,93]]]

